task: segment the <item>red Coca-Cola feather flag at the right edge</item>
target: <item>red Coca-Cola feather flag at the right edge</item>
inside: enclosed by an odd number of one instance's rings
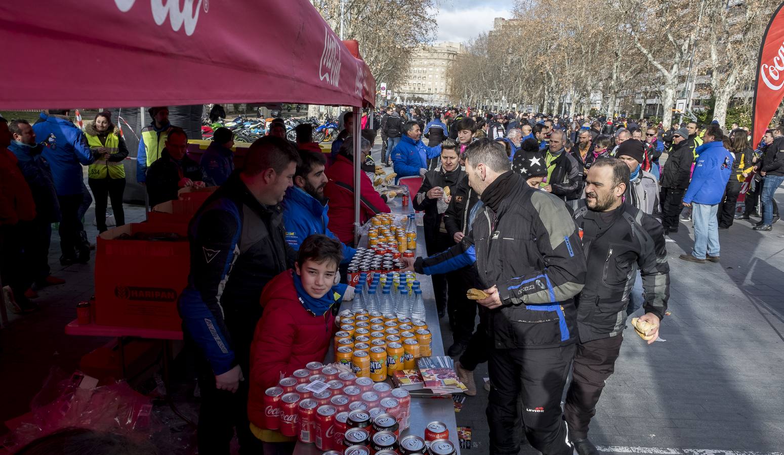
[[[776,8],[762,35],[754,83],[753,146],[757,146],[784,98],[784,13]]]

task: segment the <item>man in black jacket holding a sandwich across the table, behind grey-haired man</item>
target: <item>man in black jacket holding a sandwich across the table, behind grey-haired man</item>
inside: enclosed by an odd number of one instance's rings
[[[455,244],[444,225],[444,213],[452,200],[452,191],[463,179],[463,175],[465,172],[460,168],[457,143],[452,139],[446,139],[441,143],[441,169],[426,172],[422,186],[411,200],[414,210],[425,212],[423,222],[428,255],[444,251]],[[433,275],[431,279],[436,308],[439,314],[443,314],[447,305],[447,276]],[[462,337],[466,338],[466,341],[474,330],[474,314],[471,315],[470,330]],[[457,331],[455,339],[458,339]]]

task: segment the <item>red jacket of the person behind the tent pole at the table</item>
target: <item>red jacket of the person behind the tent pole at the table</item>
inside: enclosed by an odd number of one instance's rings
[[[329,198],[329,230],[344,244],[354,244],[354,163],[338,155],[326,174],[329,182],[324,195]],[[361,172],[360,181],[359,222],[364,223],[379,213],[389,213],[389,206],[365,172]]]

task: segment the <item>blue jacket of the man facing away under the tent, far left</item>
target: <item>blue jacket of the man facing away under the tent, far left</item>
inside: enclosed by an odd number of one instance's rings
[[[44,143],[42,153],[52,169],[57,196],[82,193],[82,164],[93,164],[93,152],[87,145],[85,133],[64,117],[41,113],[33,125],[36,140]]]

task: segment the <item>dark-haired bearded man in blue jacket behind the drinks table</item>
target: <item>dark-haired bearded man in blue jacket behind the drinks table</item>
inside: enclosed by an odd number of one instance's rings
[[[286,243],[295,251],[311,234],[324,234],[340,241],[327,227],[329,209],[324,187],[327,186],[327,175],[324,173],[326,158],[323,153],[299,150],[302,161],[296,167],[294,186],[286,190],[283,199],[283,226],[286,230]],[[357,252],[347,244],[343,244],[343,264],[354,258]]]

